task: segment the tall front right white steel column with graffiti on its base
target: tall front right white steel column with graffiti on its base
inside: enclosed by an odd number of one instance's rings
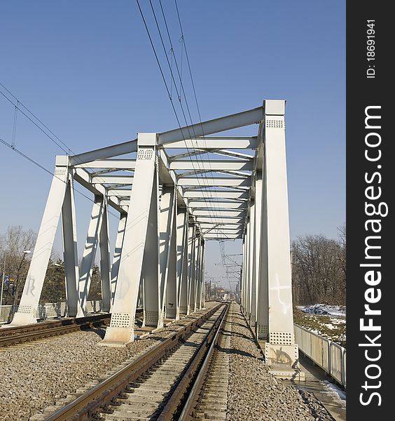
[[[285,101],[265,101],[265,175],[268,232],[269,342],[271,366],[293,367],[298,347],[293,335],[288,191],[285,154]]]

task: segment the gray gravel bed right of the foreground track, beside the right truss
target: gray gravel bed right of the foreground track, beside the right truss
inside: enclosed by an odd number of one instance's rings
[[[268,373],[251,330],[232,305],[228,421],[333,421],[314,395],[298,392]]]

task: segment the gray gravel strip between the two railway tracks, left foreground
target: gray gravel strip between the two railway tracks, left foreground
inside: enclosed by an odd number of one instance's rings
[[[0,420],[29,420],[188,321],[172,323],[124,348],[97,346],[104,330],[94,329],[0,349]]]

